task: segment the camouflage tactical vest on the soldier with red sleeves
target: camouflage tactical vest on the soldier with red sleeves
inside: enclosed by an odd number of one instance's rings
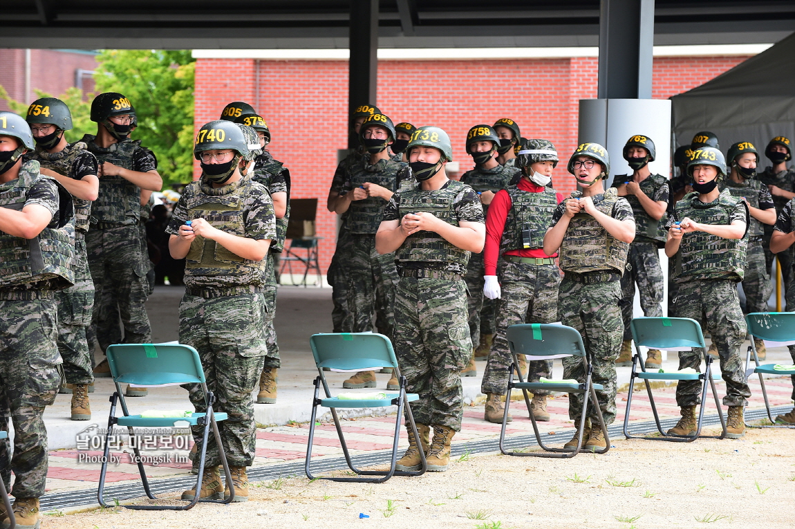
[[[557,208],[555,190],[544,188],[541,193],[531,193],[511,185],[506,191],[511,205],[502,231],[500,253],[544,247],[544,235]]]

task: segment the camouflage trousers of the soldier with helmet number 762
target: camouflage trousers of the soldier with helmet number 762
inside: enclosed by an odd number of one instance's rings
[[[626,271],[621,276],[621,316],[624,321],[624,340],[632,340],[632,309],[635,298],[635,285],[641,298],[643,315],[662,317],[663,282],[660,255],[657,243],[639,241],[630,244],[626,255]]]

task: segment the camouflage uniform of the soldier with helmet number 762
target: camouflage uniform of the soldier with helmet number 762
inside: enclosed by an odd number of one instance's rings
[[[632,175],[615,177],[613,186],[632,181]],[[669,201],[668,180],[659,174],[650,174],[639,184],[642,193],[646,193],[655,202]],[[633,305],[635,285],[641,299],[641,308],[646,317],[662,317],[663,285],[665,278],[660,266],[658,248],[665,246],[665,217],[654,220],[643,208],[637,196],[627,193],[626,201],[630,203],[635,217],[635,239],[630,243],[630,251],[626,255],[625,272],[621,276],[621,315],[624,321],[624,340],[632,340]]]

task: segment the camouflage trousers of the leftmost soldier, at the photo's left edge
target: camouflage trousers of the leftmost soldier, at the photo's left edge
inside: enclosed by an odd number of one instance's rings
[[[2,297],[2,293],[0,293]],[[14,472],[17,498],[38,498],[47,478],[45,406],[55,402],[60,375],[56,305],[48,299],[0,301],[0,430],[14,422],[14,457],[0,451],[6,490]]]

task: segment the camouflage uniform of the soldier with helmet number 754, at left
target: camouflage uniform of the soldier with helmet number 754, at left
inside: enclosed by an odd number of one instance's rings
[[[58,153],[48,153],[37,147],[25,155],[25,160],[36,160],[41,167],[50,169],[64,177],[82,180],[97,174],[97,159],[88,152],[83,142],[69,144]],[[72,197],[75,206],[75,285],[59,290],[55,294],[58,307],[58,352],[64,360],[66,383],[90,384],[94,382],[93,356],[89,351],[86,329],[91,325],[94,307],[94,283],[88,270],[86,232],[91,216],[91,202]],[[118,326],[118,325],[117,325]]]

